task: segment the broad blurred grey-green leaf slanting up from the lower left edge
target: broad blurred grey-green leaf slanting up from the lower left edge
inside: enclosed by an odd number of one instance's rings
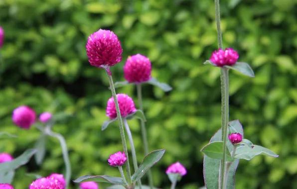
[[[0,164],[1,173],[7,173],[25,165],[30,158],[37,152],[36,149],[28,149],[22,155],[18,156],[12,161]]]

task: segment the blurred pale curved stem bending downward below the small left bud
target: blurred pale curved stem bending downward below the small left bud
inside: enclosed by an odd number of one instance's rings
[[[69,156],[68,156],[66,141],[61,134],[52,132],[49,127],[48,127],[48,129],[46,129],[46,134],[57,138],[60,142],[60,145],[62,148],[63,159],[64,159],[65,167],[66,167],[65,181],[66,181],[66,188],[67,188],[69,186],[69,182],[70,182],[70,178],[71,178],[71,165],[70,165],[70,160],[69,160]]]

